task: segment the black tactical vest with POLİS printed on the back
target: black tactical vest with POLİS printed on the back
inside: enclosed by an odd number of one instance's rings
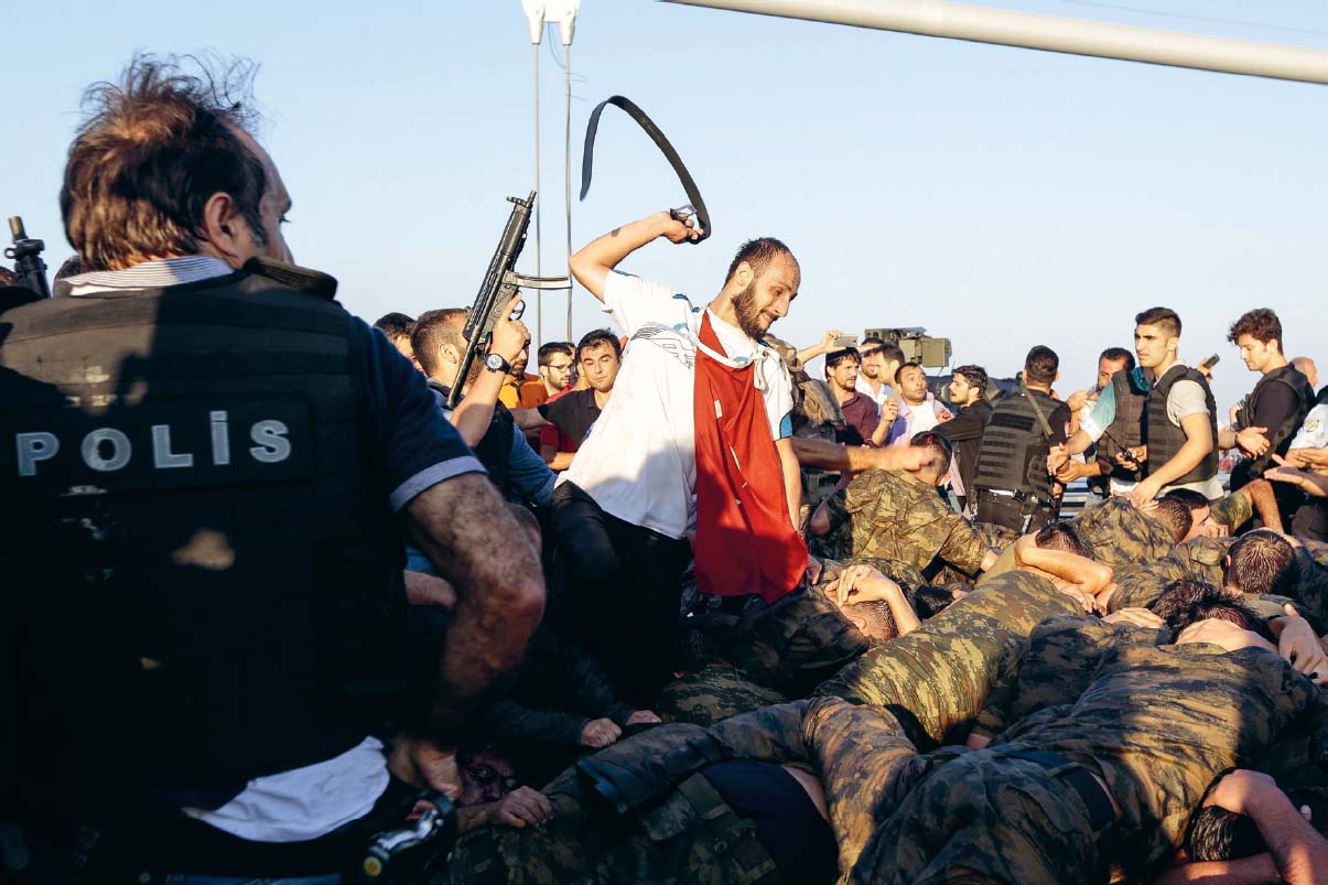
[[[56,800],[215,804],[349,749],[404,691],[402,541],[352,322],[251,272],[0,318],[21,510],[0,591]]]

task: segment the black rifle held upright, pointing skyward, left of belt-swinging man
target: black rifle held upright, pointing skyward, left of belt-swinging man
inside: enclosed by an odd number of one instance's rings
[[[521,256],[521,248],[526,245],[526,229],[530,226],[530,211],[535,207],[535,191],[530,197],[509,197],[513,203],[511,215],[507,217],[507,226],[498,239],[498,248],[489,260],[489,272],[475,295],[475,303],[466,311],[466,352],[461,355],[461,365],[457,367],[457,380],[448,393],[448,408],[457,408],[461,401],[461,388],[470,377],[470,367],[475,357],[489,352],[493,340],[494,326],[502,320],[502,312],[517,295],[518,288],[571,288],[571,280],[566,276],[526,276],[513,270]],[[518,319],[525,306],[518,307],[511,319]]]

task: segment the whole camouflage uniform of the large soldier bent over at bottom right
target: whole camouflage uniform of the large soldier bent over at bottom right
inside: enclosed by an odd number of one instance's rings
[[[1086,638],[1089,667],[1100,643],[1101,635]],[[1117,644],[1073,704],[1016,726],[1009,743],[926,772],[851,880],[942,882],[968,870],[983,881],[1105,882],[1113,858],[1129,877],[1146,876],[1182,844],[1214,777],[1262,757],[1304,714],[1324,716],[1320,690],[1272,652]],[[1037,753],[1060,760],[1029,759]],[[1061,776],[1076,765],[1106,785],[1120,807],[1114,825],[1089,821]]]

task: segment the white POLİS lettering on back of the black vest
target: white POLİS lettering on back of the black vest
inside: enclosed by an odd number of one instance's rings
[[[208,415],[212,466],[231,464],[230,417],[224,411]],[[250,457],[259,464],[280,464],[291,457],[290,427],[276,419],[255,421],[248,428]],[[177,452],[171,446],[171,425],[153,424],[150,431],[153,468],[174,470],[194,466],[191,452]],[[31,431],[15,435],[19,476],[37,476],[39,464],[54,458],[61,440],[49,431]],[[89,431],[78,446],[84,464],[100,473],[113,473],[126,468],[134,457],[134,444],[129,433],[113,427]]]

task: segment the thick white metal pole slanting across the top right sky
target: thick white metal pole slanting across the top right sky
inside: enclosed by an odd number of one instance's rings
[[[1328,52],[946,0],[664,0],[927,37],[1328,85]]]

